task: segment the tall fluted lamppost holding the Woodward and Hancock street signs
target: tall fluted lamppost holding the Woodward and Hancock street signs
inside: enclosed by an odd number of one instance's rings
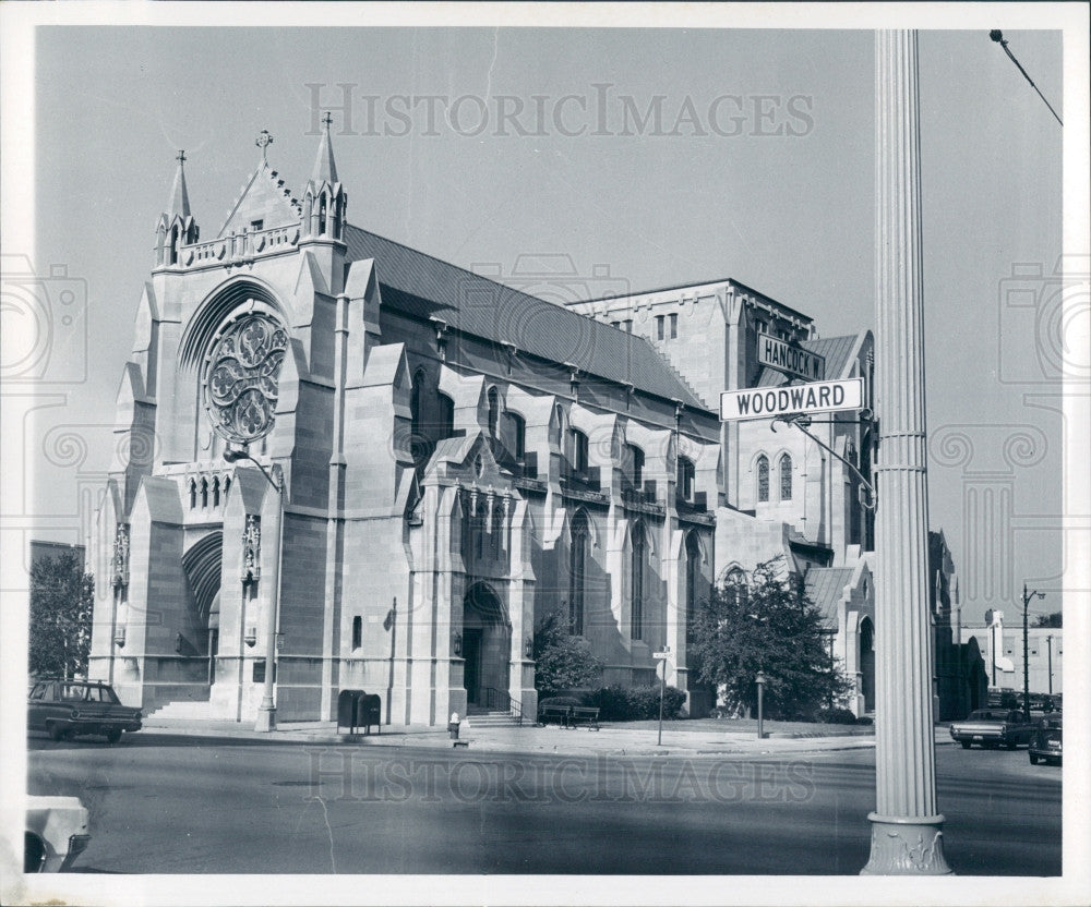
[[[944,875],[928,626],[921,148],[916,32],[875,38],[875,786],[863,874]]]

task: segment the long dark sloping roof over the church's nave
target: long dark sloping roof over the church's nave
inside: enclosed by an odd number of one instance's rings
[[[383,303],[465,334],[514,343],[582,373],[632,384],[658,397],[708,411],[651,343],[578,312],[505,287],[416,249],[345,225],[351,262],[374,258]]]

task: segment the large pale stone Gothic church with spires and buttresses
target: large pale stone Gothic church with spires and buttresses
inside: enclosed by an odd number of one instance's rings
[[[697,609],[780,558],[873,709],[870,332],[819,338],[729,278],[530,295],[352,225],[328,118],[301,193],[271,142],[211,237],[179,154],[87,555],[92,677],[179,718],[254,722],[272,691],[280,721],[331,719],[345,689],[384,724],[533,716],[555,612],[603,685],[669,650],[700,715]],[[721,421],[721,391],[801,363],[864,408]]]

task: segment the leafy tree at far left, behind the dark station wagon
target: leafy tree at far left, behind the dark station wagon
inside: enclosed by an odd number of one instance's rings
[[[86,674],[95,579],[76,554],[31,567],[29,670],[35,676]]]

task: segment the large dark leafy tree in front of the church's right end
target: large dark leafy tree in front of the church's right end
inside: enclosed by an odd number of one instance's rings
[[[812,719],[851,690],[828,640],[802,580],[782,579],[770,560],[748,580],[739,577],[714,590],[688,651],[700,679],[720,687],[729,708],[757,709],[754,678],[760,670],[768,717]]]

